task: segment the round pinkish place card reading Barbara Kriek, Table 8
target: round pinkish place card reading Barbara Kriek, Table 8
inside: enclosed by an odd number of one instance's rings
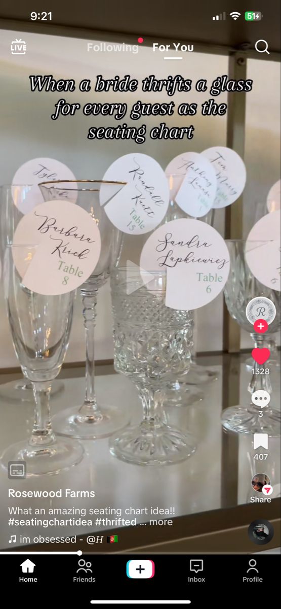
[[[81,286],[95,269],[100,231],[94,219],[75,203],[47,201],[23,216],[13,245],[15,266],[27,288],[38,294],[65,294]],[[23,247],[27,245],[32,258],[28,265]]]

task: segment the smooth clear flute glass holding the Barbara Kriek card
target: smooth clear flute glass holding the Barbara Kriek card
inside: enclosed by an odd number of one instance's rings
[[[43,296],[24,286],[15,262],[27,270],[36,245],[9,245],[4,261],[4,292],[13,345],[24,377],[32,383],[35,418],[29,441],[10,446],[2,466],[24,460],[27,476],[56,474],[80,462],[83,448],[69,438],[56,438],[50,420],[50,388],[68,348],[74,292]]]

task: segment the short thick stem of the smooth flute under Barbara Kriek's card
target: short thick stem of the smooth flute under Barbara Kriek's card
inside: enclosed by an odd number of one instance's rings
[[[29,444],[45,446],[55,442],[50,420],[50,381],[32,382],[35,415]]]

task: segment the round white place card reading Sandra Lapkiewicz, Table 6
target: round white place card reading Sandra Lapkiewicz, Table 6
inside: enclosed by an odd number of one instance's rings
[[[142,249],[140,266],[148,272],[166,270],[167,306],[198,309],[223,289],[229,275],[229,252],[215,228],[184,218],[167,222],[151,234]]]

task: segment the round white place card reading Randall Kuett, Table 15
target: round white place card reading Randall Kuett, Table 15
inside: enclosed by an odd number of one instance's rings
[[[161,223],[168,208],[168,182],[153,158],[141,153],[120,157],[103,180],[127,182],[109,202],[106,188],[100,189],[100,205],[105,205],[109,220],[123,233],[148,233]]]

